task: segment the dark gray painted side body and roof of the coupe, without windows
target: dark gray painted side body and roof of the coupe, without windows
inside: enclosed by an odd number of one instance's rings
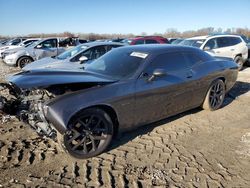
[[[165,52],[205,52],[170,45],[125,48],[150,55],[129,79],[65,94],[49,101],[46,104],[46,118],[57,130],[61,133],[66,131],[70,118],[80,110],[100,105],[109,106],[116,112],[121,131],[132,129],[200,106],[210,84],[218,78],[225,80],[227,91],[237,79],[237,65],[234,62],[219,61],[204,54],[207,56],[206,62],[148,82],[141,77],[141,73],[157,55]]]

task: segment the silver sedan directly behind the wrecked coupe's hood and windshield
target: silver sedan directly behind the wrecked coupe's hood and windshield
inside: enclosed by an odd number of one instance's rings
[[[23,70],[42,68],[69,68],[73,66],[82,68],[82,63],[89,64],[93,60],[101,57],[113,48],[123,46],[122,43],[114,42],[90,42],[78,45],[58,56],[47,57],[23,67]]]

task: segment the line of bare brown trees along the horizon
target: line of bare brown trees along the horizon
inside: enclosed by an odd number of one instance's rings
[[[245,35],[246,37],[250,38],[250,29],[248,28],[213,28],[213,27],[206,27],[198,30],[188,30],[180,32],[177,29],[170,28],[167,29],[165,33],[157,33],[155,32],[152,35],[163,36],[166,38],[190,38],[194,36],[201,36],[201,35],[209,35],[209,34],[238,34],[238,35]],[[146,36],[148,35],[146,32],[142,32],[139,36]],[[98,39],[111,39],[111,38],[131,38],[135,37],[133,33],[129,34],[98,34],[98,33],[72,33],[72,32],[63,32],[63,33],[36,33],[36,34],[29,34],[29,35],[19,35],[16,37],[34,37],[34,38],[46,38],[46,37],[79,37],[82,39],[87,40],[98,40]],[[9,38],[10,36],[3,36],[0,35],[0,38]],[[12,36],[13,37],[13,36]]]

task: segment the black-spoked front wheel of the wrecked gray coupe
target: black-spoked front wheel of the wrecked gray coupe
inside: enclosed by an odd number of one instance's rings
[[[89,108],[72,119],[69,130],[58,141],[71,156],[87,159],[105,151],[113,134],[110,116],[102,109]]]

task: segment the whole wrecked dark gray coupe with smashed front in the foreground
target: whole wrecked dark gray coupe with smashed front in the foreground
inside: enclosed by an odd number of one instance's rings
[[[237,75],[233,61],[196,48],[126,46],[81,68],[9,77],[1,83],[0,111],[84,159],[104,152],[117,132],[199,106],[217,110]]]

